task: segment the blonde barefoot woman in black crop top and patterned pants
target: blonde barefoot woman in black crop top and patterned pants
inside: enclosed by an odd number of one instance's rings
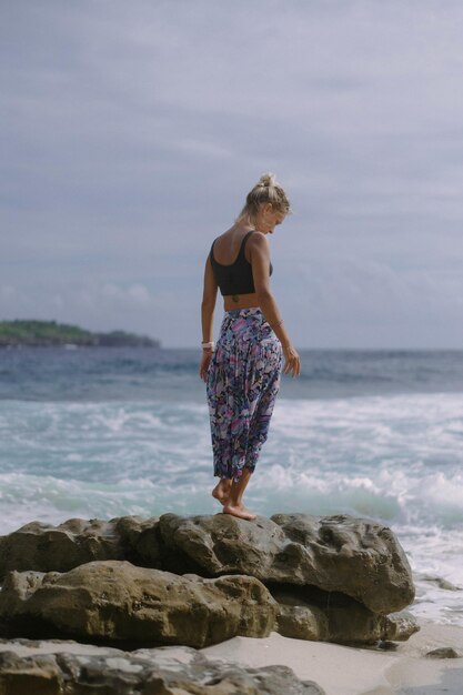
[[[289,211],[286,194],[274,175],[261,177],[233,226],[214,240],[204,269],[200,376],[207,382],[214,475],[221,479],[212,495],[225,514],[246,520],[255,514],[245,508],[242,497],[266,440],[282,353],[283,372],[292,376],[301,372],[269,284],[268,234],[273,234]],[[214,350],[218,289],[225,315]]]

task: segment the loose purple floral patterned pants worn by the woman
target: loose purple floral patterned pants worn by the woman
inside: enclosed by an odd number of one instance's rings
[[[254,471],[280,387],[282,349],[258,308],[225,312],[207,381],[214,475]]]

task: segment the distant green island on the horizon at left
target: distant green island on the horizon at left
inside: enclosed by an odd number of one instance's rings
[[[0,348],[160,348],[158,340],[125,331],[93,333],[56,321],[0,321]]]

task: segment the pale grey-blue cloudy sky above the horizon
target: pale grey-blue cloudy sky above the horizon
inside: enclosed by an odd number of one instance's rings
[[[296,348],[463,343],[460,0],[3,0],[0,320],[201,342],[263,172]],[[218,295],[215,338],[223,315]]]

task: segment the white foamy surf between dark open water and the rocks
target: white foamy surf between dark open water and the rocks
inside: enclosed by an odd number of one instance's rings
[[[246,503],[384,523],[412,564],[413,610],[463,625],[461,413],[461,393],[280,397]],[[205,402],[2,401],[0,436],[1,533],[219,511]]]

